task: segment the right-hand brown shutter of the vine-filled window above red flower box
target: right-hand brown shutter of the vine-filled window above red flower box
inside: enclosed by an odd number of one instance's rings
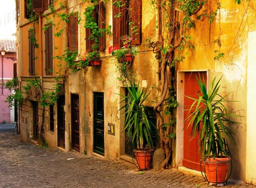
[[[98,27],[100,29],[105,29],[105,7],[104,3],[100,2],[98,5]],[[98,49],[99,50],[105,50],[105,32],[101,33],[102,36],[98,37]]]

